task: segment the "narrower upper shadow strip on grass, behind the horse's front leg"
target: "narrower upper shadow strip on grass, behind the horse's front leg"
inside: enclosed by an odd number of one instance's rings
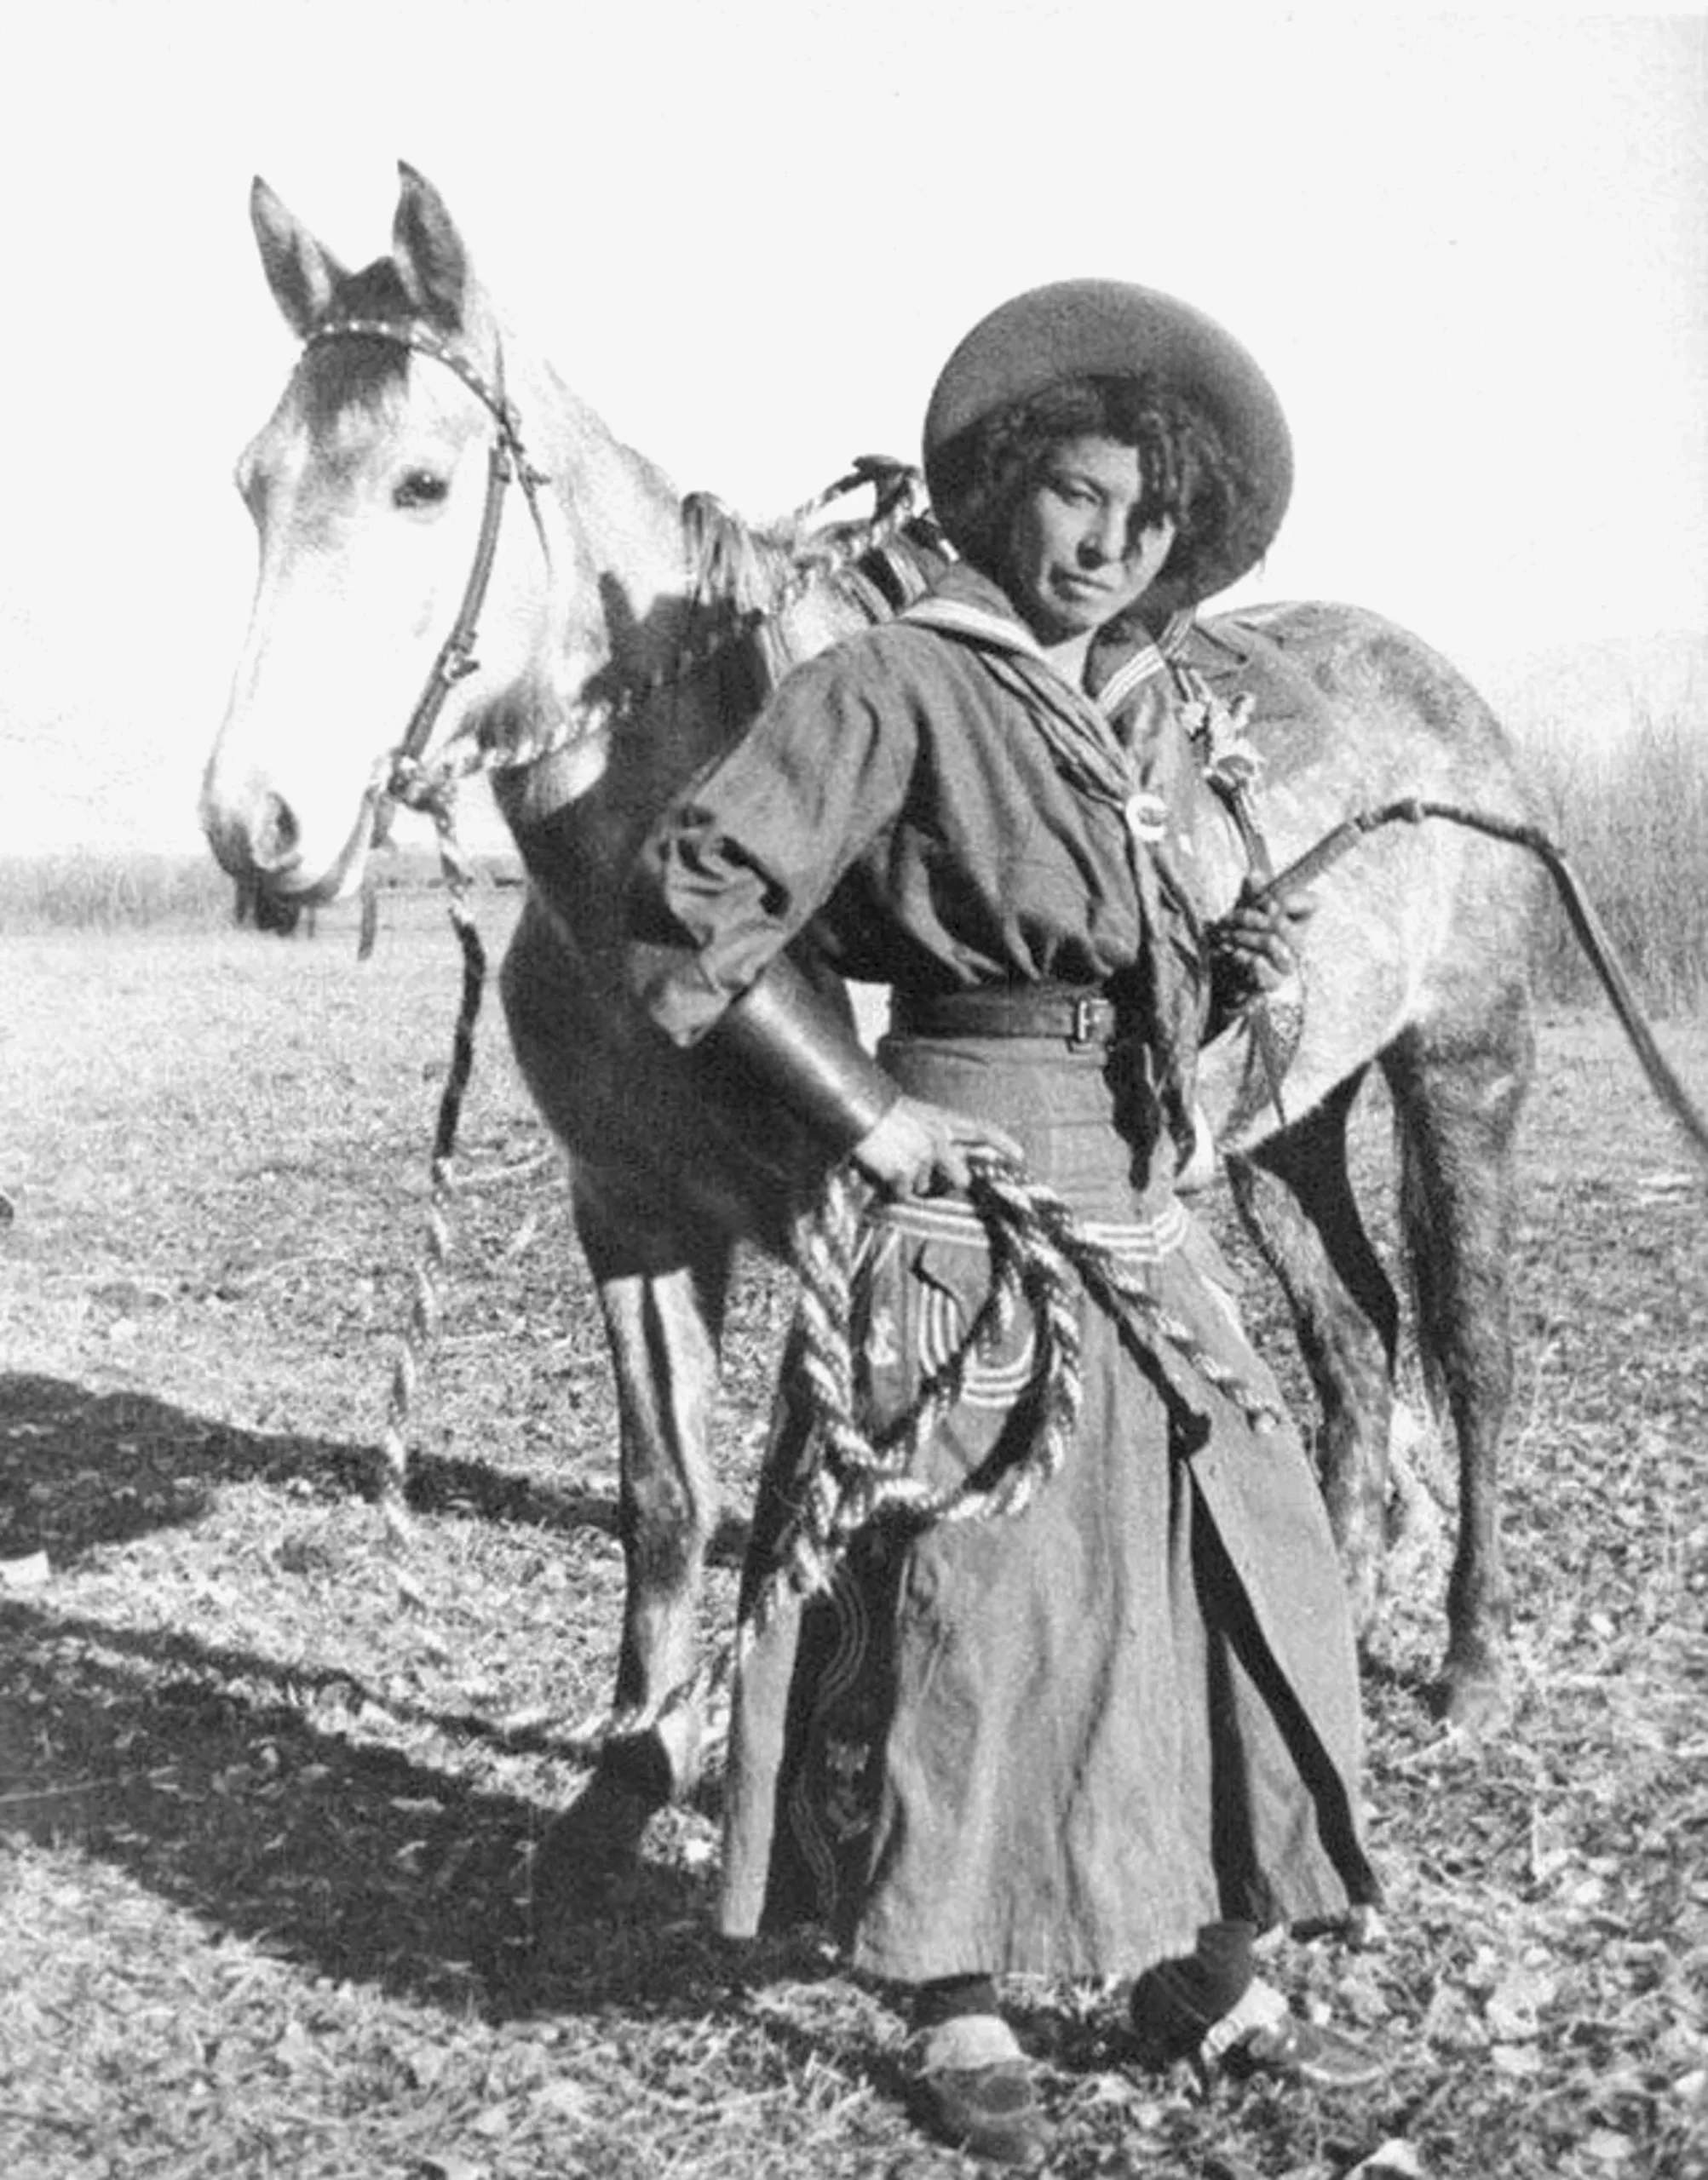
[[[377,1498],[380,1452],[347,1439],[242,1430],[153,1393],[63,1378],[0,1376],[0,1561],[46,1552],[57,1567],[196,1522],[220,1485],[264,1482],[314,1498]],[[456,1454],[414,1452],[410,1506],[548,1533],[615,1537],[611,1491],[510,1476]],[[746,1526],[726,1519],[715,1557],[735,1563]]]

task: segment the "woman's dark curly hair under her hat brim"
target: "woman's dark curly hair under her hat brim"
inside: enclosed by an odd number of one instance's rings
[[[1158,582],[1184,591],[1200,558],[1259,558],[1254,482],[1204,410],[1154,377],[1078,377],[982,416],[942,449],[936,497],[953,508],[955,538],[973,567],[1003,578],[1021,501],[1056,447],[1091,436],[1139,451],[1145,491],[1134,525],[1171,517],[1178,528]],[[1241,530],[1254,538],[1250,554]]]

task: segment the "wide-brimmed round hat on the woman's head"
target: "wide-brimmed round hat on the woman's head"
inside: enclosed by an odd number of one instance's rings
[[[1215,425],[1250,477],[1224,549],[1187,556],[1171,604],[1226,591],[1270,549],[1294,488],[1294,443],[1274,388],[1232,334],[1191,303],[1117,279],[1065,279],[999,303],[942,366],[925,412],[925,482],[955,545],[958,447],[986,416],[1058,379],[1154,377]],[[1167,582],[1167,578],[1165,578]]]

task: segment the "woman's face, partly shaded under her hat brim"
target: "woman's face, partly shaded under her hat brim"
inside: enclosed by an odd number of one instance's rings
[[[1139,530],[1143,497],[1136,447],[1091,434],[1049,451],[1008,547],[1008,595],[1041,643],[1093,634],[1156,582],[1176,525]]]

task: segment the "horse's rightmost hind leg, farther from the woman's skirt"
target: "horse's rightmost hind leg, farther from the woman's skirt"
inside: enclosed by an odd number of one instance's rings
[[[1400,1216],[1418,1345],[1459,1441],[1459,1537],[1446,1591],[1442,1707],[1483,1729],[1505,1716],[1512,1591],[1501,1550],[1499,1452],[1512,1404],[1514,1144],[1536,1042],[1523,992],[1475,1027],[1427,1025],[1385,1055],[1400,1131]]]

